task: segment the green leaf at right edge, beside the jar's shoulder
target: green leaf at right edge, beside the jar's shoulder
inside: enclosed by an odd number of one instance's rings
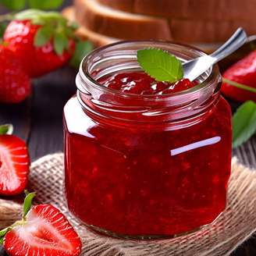
[[[237,148],[256,132],[256,103],[246,101],[233,115],[232,148]]]

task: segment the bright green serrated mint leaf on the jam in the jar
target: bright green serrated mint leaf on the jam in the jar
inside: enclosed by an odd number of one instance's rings
[[[157,81],[173,83],[183,78],[180,60],[162,49],[139,50],[137,51],[137,61],[142,69]]]

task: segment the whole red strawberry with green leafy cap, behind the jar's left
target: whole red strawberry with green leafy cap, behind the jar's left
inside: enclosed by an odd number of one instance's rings
[[[58,12],[29,9],[17,13],[5,30],[4,41],[30,77],[58,69],[73,55],[76,27]]]

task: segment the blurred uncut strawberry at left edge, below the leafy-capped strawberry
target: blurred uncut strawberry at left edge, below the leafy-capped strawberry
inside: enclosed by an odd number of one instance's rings
[[[0,102],[19,103],[31,91],[31,81],[20,59],[0,44]]]

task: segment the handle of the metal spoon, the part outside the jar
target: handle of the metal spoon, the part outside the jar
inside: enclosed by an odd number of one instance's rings
[[[226,41],[225,44],[213,52],[210,56],[216,59],[216,62],[225,58],[227,55],[230,55],[232,52],[235,52],[238,48],[240,48],[244,42],[247,40],[247,34],[243,30],[242,27],[238,28],[232,37]]]

